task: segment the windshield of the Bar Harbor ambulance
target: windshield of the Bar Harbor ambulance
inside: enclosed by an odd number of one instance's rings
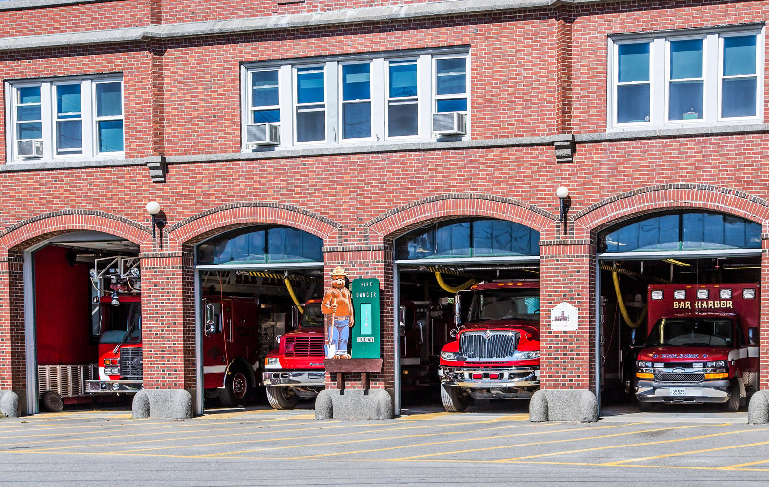
[[[647,346],[731,346],[728,318],[662,318],[649,333]]]

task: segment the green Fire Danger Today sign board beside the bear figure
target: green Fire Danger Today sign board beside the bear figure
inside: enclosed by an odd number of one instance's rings
[[[378,359],[379,345],[379,280],[354,279],[350,284],[355,326],[351,333],[351,356],[354,359]]]

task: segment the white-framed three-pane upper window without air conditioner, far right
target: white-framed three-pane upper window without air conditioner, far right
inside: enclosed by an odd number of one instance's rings
[[[609,130],[761,123],[763,28],[609,40]]]

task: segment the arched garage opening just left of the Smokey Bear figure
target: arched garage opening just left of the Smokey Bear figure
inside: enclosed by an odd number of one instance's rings
[[[228,230],[195,247],[206,409],[248,406],[264,393],[271,407],[291,409],[323,389],[322,247],[280,225]]]

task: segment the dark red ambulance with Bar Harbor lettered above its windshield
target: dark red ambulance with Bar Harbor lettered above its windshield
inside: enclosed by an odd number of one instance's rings
[[[758,302],[754,283],[649,286],[648,339],[635,374],[639,409],[723,403],[737,411],[758,389]]]

